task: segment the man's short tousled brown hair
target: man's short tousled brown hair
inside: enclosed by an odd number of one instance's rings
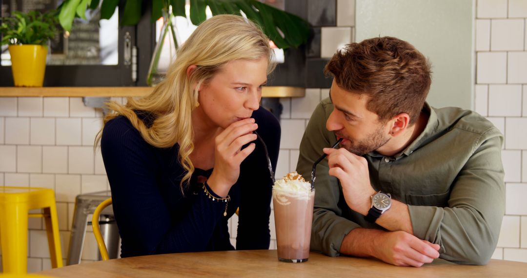
[[[385,122],[399,113],[417,121],[432,83],[431,66],[401,39],[376,37],[346,45],[325,68],[340,88],[367,94],[367,109]]]

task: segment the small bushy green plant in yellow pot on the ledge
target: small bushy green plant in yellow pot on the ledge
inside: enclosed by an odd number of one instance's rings
[[[0,44],[9,45],[15,86],[42,87],[47,43],[57,34],[54,13],[13,12],[11,17],[2,17]]]

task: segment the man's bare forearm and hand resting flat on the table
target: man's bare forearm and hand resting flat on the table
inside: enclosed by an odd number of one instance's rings
[[[349,232],[340,246],[340,253],[376,257],[399,266],[422,266],[439,257],[440,246],[418,239],[403,231],[386,232],[357,228]]]

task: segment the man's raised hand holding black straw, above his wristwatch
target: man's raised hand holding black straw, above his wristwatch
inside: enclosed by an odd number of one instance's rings
[[[369,181],[366,158],[345,148],[324,148],[324,153],[328,155],[329,175],[339,179],[349,208],[363,215],[368,214],[370,196],[375,194],[375,190]]]

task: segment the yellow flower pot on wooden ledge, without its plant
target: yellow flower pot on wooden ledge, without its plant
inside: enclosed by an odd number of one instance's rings
[[[47,47],[35,44],[9,45],[9,54],[15,86],[42,87]]]

